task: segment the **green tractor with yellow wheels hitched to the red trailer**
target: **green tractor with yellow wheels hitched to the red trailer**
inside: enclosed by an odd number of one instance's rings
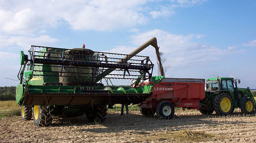
[[[218,115],[232,114],[235,108],[240,108],[245,114],[252,114],[256,109],[255,99],[250,88],[238,88],[240,79],[209,78],[207,79],[205,99],[200,100],[202,114]]]

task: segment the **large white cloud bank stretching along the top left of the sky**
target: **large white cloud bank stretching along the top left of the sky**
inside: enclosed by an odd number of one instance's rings
[[[169,16],[175,7],[188,7],[204,0],[171,0],[148,9],[152,0],[2,0],[0,30],[8,34],[29,35],[45,27],[58,27],[68,22],[74,30],[111,31],[144,25],[153,18]]]

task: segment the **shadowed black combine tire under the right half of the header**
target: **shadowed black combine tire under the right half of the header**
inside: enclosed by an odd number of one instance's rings
[[[98,106],[86,113],[89,122],[100,122],[105,120],[108,109],[105,106]]]

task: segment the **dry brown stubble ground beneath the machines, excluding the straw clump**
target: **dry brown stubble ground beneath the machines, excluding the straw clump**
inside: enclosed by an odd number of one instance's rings
[[[120,116],[109,111],[104,122],[89,123],[86,116],[55,118],[50,127],[36,127],[20,116],[0,118],[0,142],[194,142],[177,139],[180,130],[202,131],[212,137],[199,142],[256,142],[256,115],[201,115],[197,110],[176,111],[173,119],[144,117],[140,111]],[[167,135],[169,134],[169,135]],[[198,141],[198,140],[197,140]]]

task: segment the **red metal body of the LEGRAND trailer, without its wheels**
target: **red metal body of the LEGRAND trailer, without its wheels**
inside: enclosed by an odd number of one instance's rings
[[[152,96],[139,106],[156,109],[161,101],[169,101],[174,107],[200,109],[199,100],[205,98],[204,81],[192,78],[164,78],[154,85]],[[144,82],[144,86],[148,84],[152,84],[152,78]]]

